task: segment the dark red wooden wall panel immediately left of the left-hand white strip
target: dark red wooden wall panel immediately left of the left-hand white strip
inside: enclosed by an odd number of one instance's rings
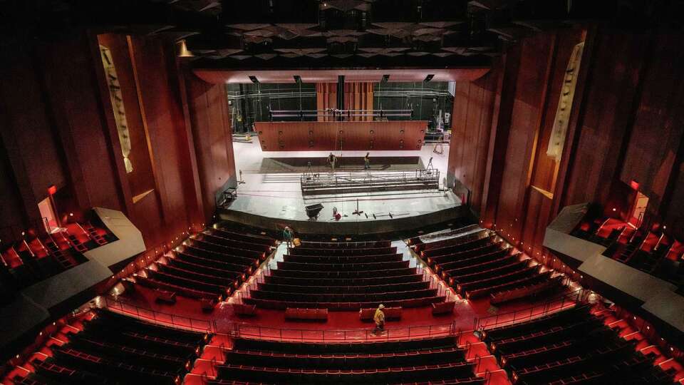
[[[79,205],[83,210],[98,206],[125,212],[122,175],[115,159],[115,151],[120,155],[118,137],[110,135],[105,118],[103,103],[109,102],[98,84],[101,63],[91,43],[80,35],[43,47],[41,71]]]

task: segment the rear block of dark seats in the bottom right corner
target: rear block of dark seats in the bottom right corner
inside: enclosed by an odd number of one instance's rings
[[[481,338],[514,384],[672,382],[653,357],[634,349],[636,341],[621,339],[588,305],[487,329]]]

